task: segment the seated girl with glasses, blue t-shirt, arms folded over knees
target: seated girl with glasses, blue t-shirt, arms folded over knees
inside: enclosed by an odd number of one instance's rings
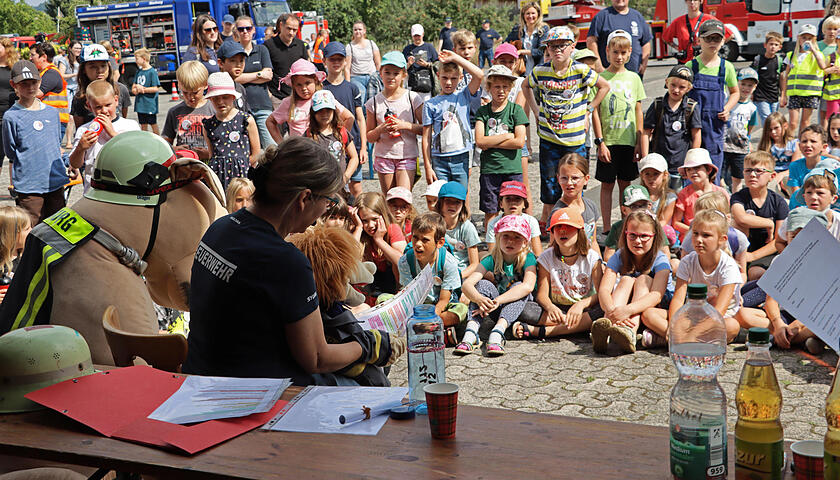
[[[634,353],[636,331],[644,314],[657,307],[664,309],[671,300],[671,264],[659,249],[664,238],[662,227],[649,210],[630,212],[624,220],[619,249],[607,262],[598,289],[604,318],[592,323],[592,348],[596,353],[605,354],[608,341],[624,353]],[[660,335],[665,334],[665,323],[654,323]]]

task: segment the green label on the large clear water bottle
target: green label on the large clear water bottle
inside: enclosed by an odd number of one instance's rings
[[[726,479],[726,425],[671,425],[671,473],[677,480]]]

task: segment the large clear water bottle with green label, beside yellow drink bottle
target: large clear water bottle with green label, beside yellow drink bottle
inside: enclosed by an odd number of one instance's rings
[[[687,296],[668,329],[679,372],[671,390],[671,474],[678,480],[725,480],[726,395],[717,373],[726,354],[726,324],[706,302],[706,285],[690,284]]]

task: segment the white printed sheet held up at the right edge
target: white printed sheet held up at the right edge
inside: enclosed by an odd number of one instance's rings
[[[840,221],[834,215],[834,221]],[[840,351],[840,242],[819,222],[808,222],[773,260],[758,286]]]

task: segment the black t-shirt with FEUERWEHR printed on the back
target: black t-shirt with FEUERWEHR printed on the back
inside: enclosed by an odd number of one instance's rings
[[[309,385],[285,328],[316,308],[312,266],[303,253],[245,209],[226,215],[210,225],[195,253],[183,371]]]

